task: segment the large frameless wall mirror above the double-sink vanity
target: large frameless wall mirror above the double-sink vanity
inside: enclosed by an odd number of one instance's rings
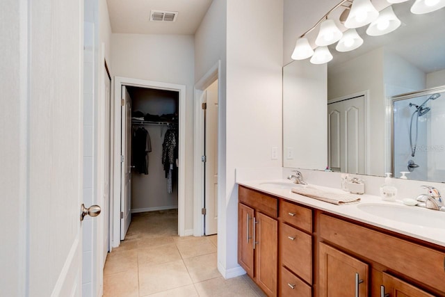
[[[284,66],[284,167],[445,182],[445,8],[414,15],[413,3],[392,5],[396,31],[364,26],[362,47]]]

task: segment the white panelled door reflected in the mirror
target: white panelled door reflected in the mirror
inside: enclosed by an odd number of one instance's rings
[[[328,163],[334,171],[365,173],[364,96],[327,104]]]

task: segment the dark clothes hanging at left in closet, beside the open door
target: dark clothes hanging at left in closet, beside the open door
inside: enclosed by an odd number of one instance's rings
[[[133,132],[131,165],[136,172],[148,175],[148,153],[152,152],[152,141],[144,127],[138,127]]]

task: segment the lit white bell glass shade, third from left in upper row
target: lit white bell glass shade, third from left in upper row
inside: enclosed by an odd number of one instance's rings
[[[371,0],[354,0],[345,26],[349,29],[359,28],[374,22],[378,15],[378,10],[375,9]]]

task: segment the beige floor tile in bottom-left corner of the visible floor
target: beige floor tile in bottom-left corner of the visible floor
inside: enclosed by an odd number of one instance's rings
[[[138,296],[138,269],[104,275],[104,297]]]

